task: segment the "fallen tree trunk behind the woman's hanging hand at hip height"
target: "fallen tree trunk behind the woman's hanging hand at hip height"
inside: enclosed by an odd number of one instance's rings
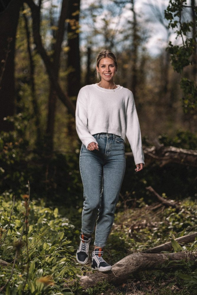
[[[128,157],[132,156],[133,153],[125,153]],[[144,148],[144,156],[146,165],[150,165],[153,162],[158,162],[159,166],[162,167],[168,163],[177,163],[186,166],[197,167],[197,151],[196,150],[186,150],[182,148],[175,147],[164,147],[156,146]]]

